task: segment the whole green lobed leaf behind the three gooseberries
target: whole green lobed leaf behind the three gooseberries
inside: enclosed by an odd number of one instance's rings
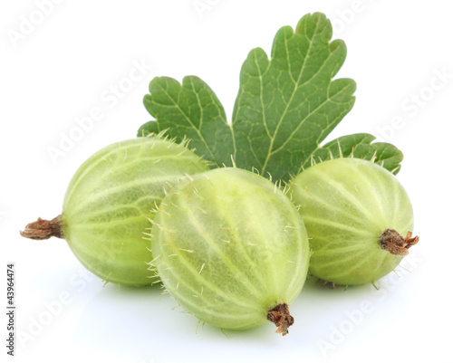
[[[144,104],[156,119],[139,136],[167,130],[215,167],[256,168],[262,175],[288,181],[316,160],[353,156],[372,159],[394,174],[402,153],[369,134],[323,140],[352,109],[355,82],[333,77],[342,67],[346,46],[331,42],[332,24],[324,14],[306,14],[294,30],[275,35],[271,59],[252,50],[240,74],[232,125],[216,94],[198,77],[182,83],[168,77],[149,83]]]

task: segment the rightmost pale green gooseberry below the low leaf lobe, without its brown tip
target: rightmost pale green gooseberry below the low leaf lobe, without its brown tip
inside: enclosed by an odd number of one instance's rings
[[[413,228],[409,196],[389,171],[367,160],[337,158],[309,167],[290,186],[313,254],[310,272],[326,282],[356,285],[391,272],[401,256],[381,249],[387,229]]]

